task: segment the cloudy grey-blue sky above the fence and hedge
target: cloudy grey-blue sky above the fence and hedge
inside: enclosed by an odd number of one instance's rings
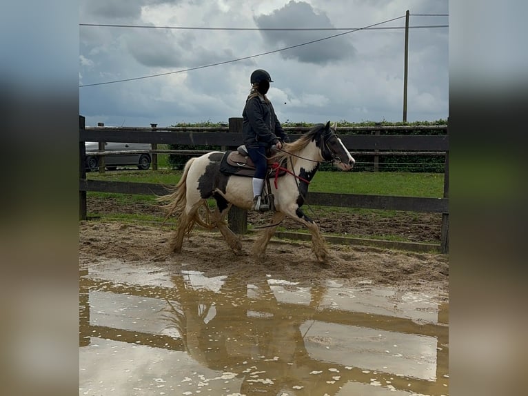
[[[409,30],[407,121],[446,119],[449,28],[429,26],[449,24],[431,16],[447,0],[81,0],[80,114],[87,126],[227,122],[263,68],[283,122],[402,121],[405,30],[387,28],[406,10],[427,26]]]

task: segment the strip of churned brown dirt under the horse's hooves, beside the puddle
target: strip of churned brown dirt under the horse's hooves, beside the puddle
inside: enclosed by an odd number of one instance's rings
[[[178,270],[202,271],[206,276],[240,274],[247,281],[272,274],[301,285],[324,284],[329,279],[343,283],[393,286],[418,290],[447,300],[448,257],[440,254],[408,253],[364,246],[330,245],[332,260],[321,264],[307,242],[274,240],[265,262],[252,259],[252,237],[243,238],[245,253],[236,255],[219,232],[196,231],[185,239],[181,255],[169,252],[172,229],[112,221],[82,221],[79,226],[79,257],[83,264],[103,259],[155,263]]]

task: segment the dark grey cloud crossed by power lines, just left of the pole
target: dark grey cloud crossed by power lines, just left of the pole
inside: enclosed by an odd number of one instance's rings
[[[283,8],[274,10],[271,14],[255,17],[258,28],[334,28],[325,13],[316,13],[308,3],[290,1]],[[322,39],[338,34],[338,31],[307,31],[307,30],[262,30],[261,34],[273,48],[296,46],[307,41]],[[279,52],[285,59],[297,59],[307,63],[329,63],[354,56],[356,49],[349,42],[347,35],[319,41],[291,50]]]

